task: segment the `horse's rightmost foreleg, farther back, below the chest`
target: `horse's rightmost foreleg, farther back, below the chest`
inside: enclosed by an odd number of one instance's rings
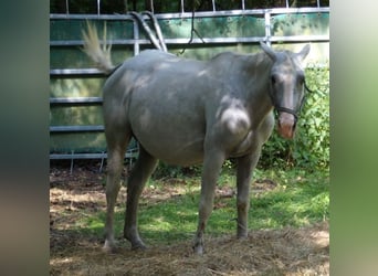
[[[248,211],[250,209],[250,187],[254,167],[260,157],[260,151],[238,159],[237,172],[237,208],[238,208],[238,231],[239,238],[248,236]]]

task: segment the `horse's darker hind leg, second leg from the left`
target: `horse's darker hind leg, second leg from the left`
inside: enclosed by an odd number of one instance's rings
[[[146,245],[139,237],[137,226],[138,201],[147,179],[154,172],[157,159],[150,156],[141,146],[139,157],[127,183],[127,203],[125,214],[124,237],[132,243],[132,248],[145,248]]]

